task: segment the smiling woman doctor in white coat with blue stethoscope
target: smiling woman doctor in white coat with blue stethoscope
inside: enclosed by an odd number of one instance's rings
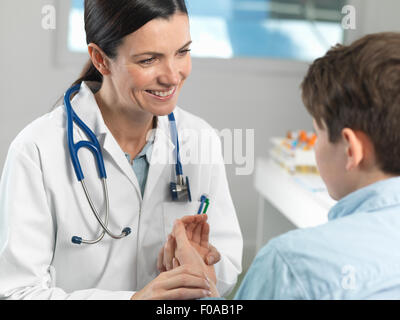
[[[242,237],[220,142],[205,121],[176,107],[191,71],[184,0],[86,0],[85,29],[90,63],[77,86],[9,149],[0,185],[0,298],[206,296],[204,274],[169,270],[163,255],[175,219],[196,214],[202,195],[217,287],[229,292],[241,272]],[[98,147],[74,153],[79,141],[95,140]],[[181,158],[185,147],[206,161],[178,168],[179,147]]]

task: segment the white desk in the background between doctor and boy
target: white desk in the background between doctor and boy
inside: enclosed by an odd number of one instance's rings
[[[254,175],[254,186],[259,193],[257,251],[263,241],[265,200],[298,228],[314,227],[328,221],[329,209],[336,202],[326,190],[311,191],[302,186],[298,180],[301,177],[289,174],[271,159],[257,159]]]

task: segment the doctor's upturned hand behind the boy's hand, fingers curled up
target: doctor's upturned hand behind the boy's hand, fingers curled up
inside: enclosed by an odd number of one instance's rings
[[[210,266],[221,260],[221,255],[218,250],[209,244],[210,226],[207,223],[207,215],[190,215],[181,218],[186,235],[192,246],[198,251],[204,262]],[[161,248],[158,254],[157,268],[160,272],[171,270],[172,259],[175,252],[175,243],[169,235],[167,242]]]

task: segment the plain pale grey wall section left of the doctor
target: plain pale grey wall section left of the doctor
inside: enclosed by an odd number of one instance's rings
[[[48,112],[80,66],[56,67],[56,32],[42,29],[51,0],[2,0],[0,11],[0,167],[16,134]]]

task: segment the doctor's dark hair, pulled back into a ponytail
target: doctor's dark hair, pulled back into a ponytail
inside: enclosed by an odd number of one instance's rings
[[[114,59],[125,36],[153,19],[168,19],[177,12],[188,14],[185,0],[85,0],[86,43],[98,45]],[[90,59],[73,85],[82,81],[103,81]]]

